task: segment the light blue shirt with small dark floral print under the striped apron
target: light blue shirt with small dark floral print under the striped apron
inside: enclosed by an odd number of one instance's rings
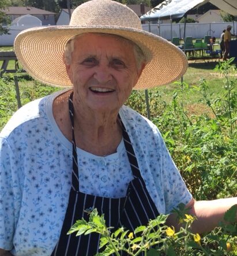
[[[52,114],[60,92],[21,107],[0,133],[0,248],[17,256],[51,255],[71,186],[72,144]],[[119,112],[146,187],[160,213],[187,204],[191,194],[151,121],[123,106]],[[118,198],[133,179],[123,140],[115,154],[77,149],[80,191]]]

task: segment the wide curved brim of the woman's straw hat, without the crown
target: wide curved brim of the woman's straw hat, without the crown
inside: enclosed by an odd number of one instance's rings
[[[73,36],[90,32],[119,35],[140,46],[148,64],[134,89],[172,83],[186,72],[187,58],[182,50],[160,36],[140,29],[114,26],[31,28],[18,34],[14,49],[18,61],[34,79],[52,86],[72,86],[63,63],[65,45]]]

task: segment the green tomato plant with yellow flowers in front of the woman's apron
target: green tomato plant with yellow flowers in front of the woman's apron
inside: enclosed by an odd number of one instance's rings
[[[233,206],[225,213],[224,220],[230,224],[220,224],[219,228],[201,238],[198,233],[191,232],[191,224],[195,217],[185,213],[183,205],[175,210],[179,216],[182,227],[178,232],[174,227],[165,224],[168,215],[161,214],[155,220],[150,220],[147,225],[137,227],[134,232],[122,228],[113,230],[106,227],[104,215],[99,216],[96,209],[89,213],[89,221],[76,221],[68,234],[76,236],[89,233],[100,233],[100,248],[97,256],[108,256],[114,253],[119,256],[121,251],[127,255],[137,256],[144,252],[147,256],[158,255],[236,255],[230,251],[230,245],[235,246],[237,225],[235,223],[237,207]],[[233,249],[233,247],[232,247]]]

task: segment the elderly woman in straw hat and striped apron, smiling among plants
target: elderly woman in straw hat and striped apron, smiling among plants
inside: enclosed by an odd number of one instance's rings
[[[123,105],[187,68],[132,10],[89,1],[69,26],[23,31],[14,46],[35,79],[73,88],[28,103],[1,132],[0,255],[95,255],[99,235],[66,235],[93,208],[133,231],[185,203],[202,232],[236,203],[195,202],[155,125]]]

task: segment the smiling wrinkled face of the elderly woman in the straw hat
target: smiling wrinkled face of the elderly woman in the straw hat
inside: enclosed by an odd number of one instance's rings
[[[118,112],[136,85],[138,70],[133,45],[116,36],[96,33],[75,39],[67,74],[82,110]]]

